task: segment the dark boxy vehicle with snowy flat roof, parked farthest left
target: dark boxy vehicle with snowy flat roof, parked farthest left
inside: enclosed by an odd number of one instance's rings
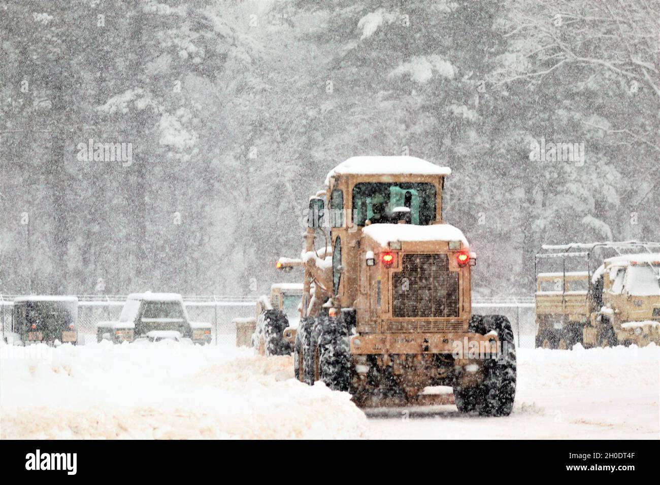
[[[78,298],[20,296],[14,300],[11,333],[5,340],[17,345],[78,342]]]

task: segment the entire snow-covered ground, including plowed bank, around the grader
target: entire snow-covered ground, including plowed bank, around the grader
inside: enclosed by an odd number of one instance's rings
[[[172,342],[56,349],[0,344],[0,436],[651,438],[660,348],[519,349],[509,418],[455,406],[358,410],[292,379],[288,357]]]

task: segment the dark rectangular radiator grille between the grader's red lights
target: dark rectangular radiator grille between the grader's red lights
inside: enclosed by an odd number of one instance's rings
[[[394,317],[459,316],[458,273],[446,254],[406,254],[401,268],[392,278]]]

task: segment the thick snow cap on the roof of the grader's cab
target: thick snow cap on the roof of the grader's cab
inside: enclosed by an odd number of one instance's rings
[[[328,172],[325,185],[339,174],[352,175],[443,175],[451,174],[451,168],[434,165],[416,156],[352,156]]]

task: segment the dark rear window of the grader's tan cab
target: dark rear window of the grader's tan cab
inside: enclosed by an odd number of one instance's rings
[[[401,214],[395,209],[409,209],[409,224],[426,226],[436,219],[436,186],[416,182],[365,182],[353,187],[353,224],[396,224]],[[405,213],[405,212],[404,212]]]

